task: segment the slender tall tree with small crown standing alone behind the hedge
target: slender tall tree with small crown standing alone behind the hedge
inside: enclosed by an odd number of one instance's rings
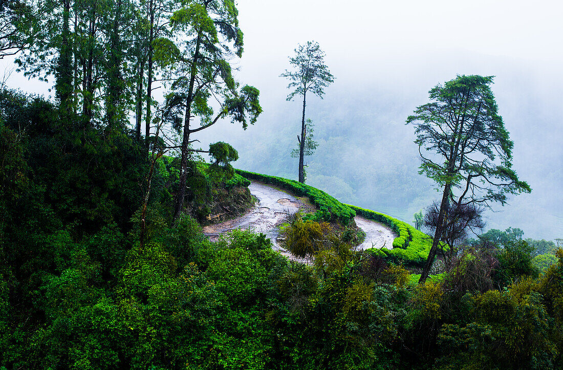
[[[305,121],[305,106],[307,92],[311,92],[323,99],[324,87],[334,82],[334,76],[324,64],[325,53],[321,50],[319,43],[307,41],[305,45],[299,45],[295,49],[296,56],[289,58],[289,64],[293,70],[287,69],[280,77],[289,79],[288,88],[295,88],[287,96],[287,100],[293,100],[296,95],[303,96],[303,114],[301,118],[301,136],[297,136],[299,143],[299,182],[305,182],[305,171],[303,170],[303,157],[306,155],[307,124]],[[310,131],[311,133],[312,131]],[[315,145],[316,148],[316,145]]]

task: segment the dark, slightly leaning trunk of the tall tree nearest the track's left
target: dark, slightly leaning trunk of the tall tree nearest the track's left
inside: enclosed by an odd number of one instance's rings
[[[197,73],[197,61],[199,57],[199,46],[201,42],[201,35],[198,35],[198,40],[195,44],[194,60],[191,62],[191,75],[190,75],[190,87],[187,92],[186,99],[186,116],[184,118],[184,138],[182,140],[182,159],[180,162],[180,187],[178,188],[178,194],[176,195],[176,207],[174,210],[174,217],[172,219],[172,224],[176,224],[176,221],[182,213],[184,208],[184,196],[186,195],[186,180],[187,180],[187,146],[190,142],[190,118],[191,118],[191,102],[194,99],[194,83],[195,75]]]

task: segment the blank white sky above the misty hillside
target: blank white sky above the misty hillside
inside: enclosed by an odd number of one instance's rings
[[[557,1],[239,0],[238,6],[244,59],[287,56],[310,39],[327,52],[327,64],[348,67],[390,59],[408,65],[421,55],[456,51],[547,63],[563,55]]]

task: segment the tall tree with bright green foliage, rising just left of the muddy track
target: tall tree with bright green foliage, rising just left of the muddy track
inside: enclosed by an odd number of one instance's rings
[[[198,0],[184,5],[170,19],[173,37],[161,37],[154,42],[155,59],[168,67],[172,81],[166,96],[165,119],[182,137],[181,145],[176,147],[181,150],[181,162],[173,223],[184,208],[186,180],[192,170],[188,166],[190,154],[199,151],[191,148],[195,140],[190,141],[190,136],[227,116],[246,129],[248,121],[253,124],[262,112],[258,89],[240,87],[229,63],[243,52],[243,33],[234,1]],[[209,105],[211,98],[219,105],[217,113]],[[199,127],[191,126],[194,117],[200,118]],[[238,158],[231,154],[234,150],[225,148],[221,144],[209,150],[223,168],[230,158]]]

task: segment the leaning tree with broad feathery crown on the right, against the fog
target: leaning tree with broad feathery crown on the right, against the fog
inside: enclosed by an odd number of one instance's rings
[[[414,142],[422,159],[419,173],[443,191],[434,242],[420,283],[426,281],[448,222],[452,222],[447,214],[450,204],[490,208],[492,202],[506,204],[507,194],[531,191],[512,170],[513,142],[498,115],[491,83],[492,76],[458,75],[432,88],[431,102],[419,106],[406,119],[415,126]]]

